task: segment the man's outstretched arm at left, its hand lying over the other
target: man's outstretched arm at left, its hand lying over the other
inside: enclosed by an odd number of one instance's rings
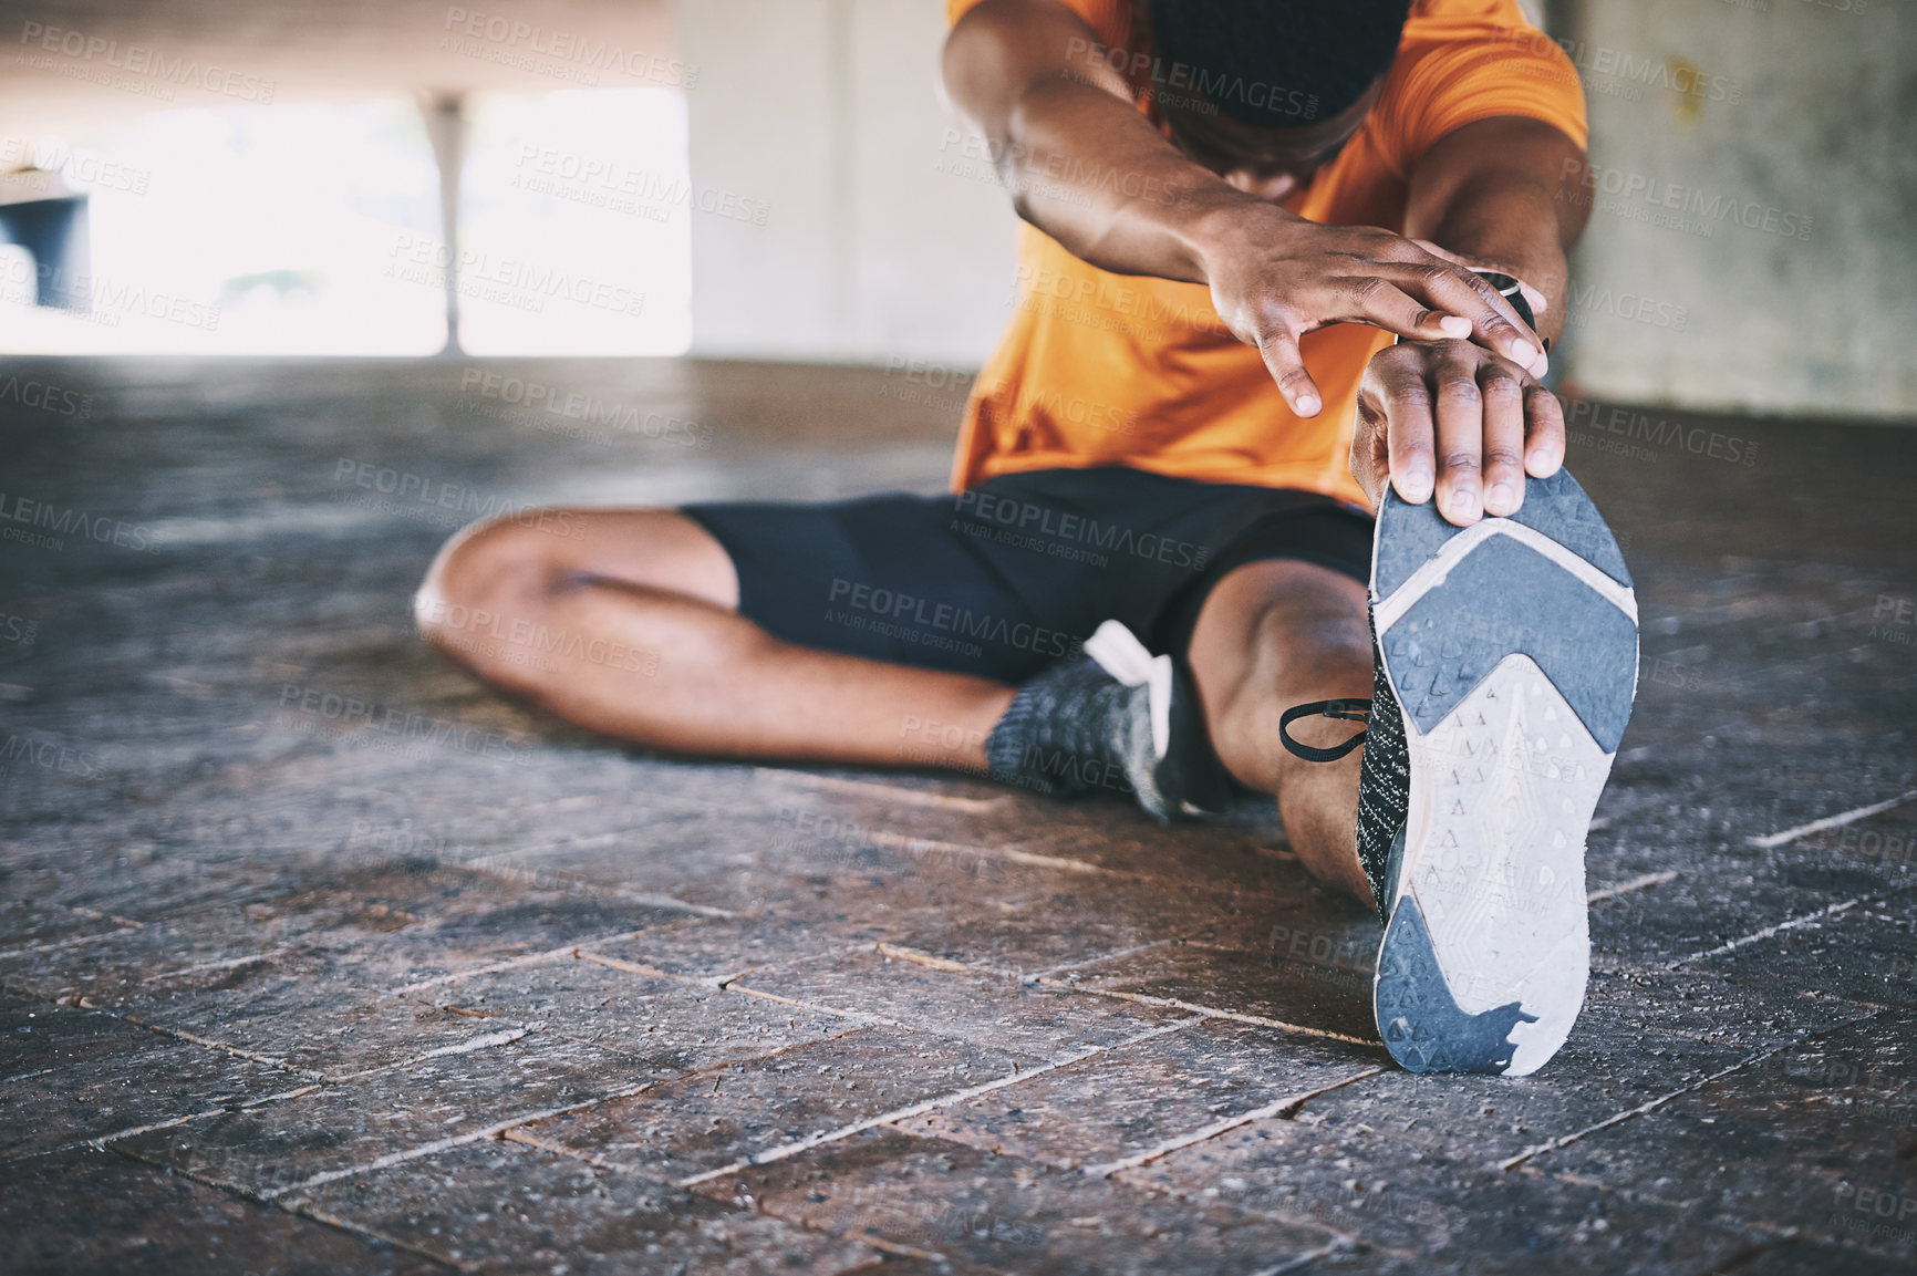
[[[1327,324],[1470,337],[1543,368],[1516,312],[1468,270],[1386,230],[1307,222],[1185,157],[1097,44],[1056,0],[985,0],[945,42],[945,84],[991,144],[1020,216],[1104,270],[1208,284],[1300,416],[1323,395],[1298,339]]]

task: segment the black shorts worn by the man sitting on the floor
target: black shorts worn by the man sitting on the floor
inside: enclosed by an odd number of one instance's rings
[[[1102,621],[1185,659],[1231,569],[1300,559],[1371,579],[1371,515],[1321,496],[1143,469],[1039,469],[957,496],[682,510],[738,569],[738,609],[774,638],[1026,682]]]

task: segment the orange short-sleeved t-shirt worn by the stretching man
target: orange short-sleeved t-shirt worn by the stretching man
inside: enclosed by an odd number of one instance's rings
[[[1133,100],[1160,123],[1133,2],[1064,2],[1112,50],[1112,65],[1139,67],[1127,75]],[[951,21],[974,4],[947,0]],[[1415,0],[1376,105],[1284,207],[1315,222],[1403,232],[1419,155],[1493,115],[1539,119],[1585,144],[1578,73],[1516,0]],[[1028,469],[1131,466],[1369,504],[1350,471],[1351,425],[1365,364],[1390,343],[1367,324],[1305,335],[1305,368],[1325,397],[1305,420],[1284,404],[1258,351],[1225,328],[1212,289],[1098,270],[1026,224],[1016,310],[966,402],[953,489]]]

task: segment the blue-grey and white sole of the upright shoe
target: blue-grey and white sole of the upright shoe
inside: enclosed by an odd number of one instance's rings
[[[1524,1077],[1583,1006],[1583,841],[1637,688],[1631,577],[1562,469],[1472,527],[1386,494],[1374,535],[1373,621],[1411,764],[1378,1033],[1415,1073]]]

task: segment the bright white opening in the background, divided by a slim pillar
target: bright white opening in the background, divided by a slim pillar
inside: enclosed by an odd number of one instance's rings
[[[84,312],[0,247],[0,351],[431,354],[439,171],[410,100],[165,111],[6,142],[90,197]],[[460,322],[473,354],[679,354],[690,207],[677,90],[468,103]]]

